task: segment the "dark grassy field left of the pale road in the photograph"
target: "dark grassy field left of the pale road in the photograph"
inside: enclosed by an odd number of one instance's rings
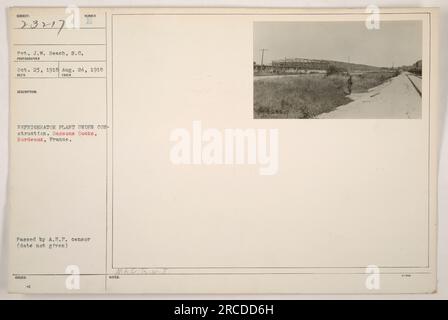
[[[352,92],[364,92],[397,75],[369,72],[352,76]],[[346,74],[303,74],[254,81],[254,118],[309,119],[352,100]]]

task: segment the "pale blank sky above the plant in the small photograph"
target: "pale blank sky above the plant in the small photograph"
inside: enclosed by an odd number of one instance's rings
[[[361,63],[377,67],[411,65],[422,57],[421,21],[255,22],[254,61],[286,58]]]

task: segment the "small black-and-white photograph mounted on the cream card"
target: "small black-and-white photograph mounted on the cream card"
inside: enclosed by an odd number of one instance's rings
[[[420,21],[256,22],[255,119],[421,119]]]

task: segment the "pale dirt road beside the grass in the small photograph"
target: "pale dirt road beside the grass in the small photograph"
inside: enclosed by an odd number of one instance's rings
[[[421,79],[413,76],[415,85]],[[414,78],[412,80],[414,80]],[[348,96],[354,100],[336,110],[317,116],[320,119],[418,119],[421,97],[405,73],[370,89]]]

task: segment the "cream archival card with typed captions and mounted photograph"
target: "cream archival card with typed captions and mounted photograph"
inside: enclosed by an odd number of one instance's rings
[[[9,10],[10,292],[437,290],[437,9],[71,9]]]

